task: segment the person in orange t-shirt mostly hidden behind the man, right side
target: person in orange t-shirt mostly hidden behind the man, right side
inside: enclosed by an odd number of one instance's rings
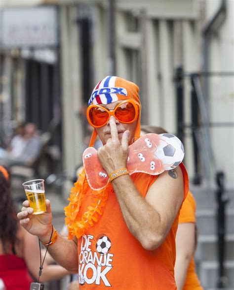
[[[168,133],[155,126],[141,126],[141,135]],[[196,249],[196,202],[189,191],[182,203],[179,225],[176,232],[175,280],[178,290],[202,290],[195,272],[194,253]]]

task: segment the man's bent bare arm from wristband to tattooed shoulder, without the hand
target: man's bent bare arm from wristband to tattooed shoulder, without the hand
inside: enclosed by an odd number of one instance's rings
[[[160,246],[181,206],[184,187],[179,167],[158,176],[146,198],[137,191],[129,175],[112,181],[123,218],[130,232],[147,250]]]

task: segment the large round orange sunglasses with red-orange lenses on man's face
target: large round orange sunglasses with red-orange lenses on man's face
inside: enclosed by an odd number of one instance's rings
[[[94,128],[100,128],[107,124],[111,116],[121,123],[133,123],[138,117],[139,106],[132,99],[126,99],[110,111],[101,105],[90,105],[86,116],[88,123]]]

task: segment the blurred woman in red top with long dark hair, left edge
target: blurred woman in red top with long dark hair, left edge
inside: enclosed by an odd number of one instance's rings
[[[38,278],[39,266],[38,238],[20,226],[10,192],[10,175],[0,165],[0,278],[6,290],[29,290],[31,275]],[[59,265],[44,263],[40,281],[60,279],[67,274]]]

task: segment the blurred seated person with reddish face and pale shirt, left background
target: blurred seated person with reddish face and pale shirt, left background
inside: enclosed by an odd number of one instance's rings
[[[37,126],[28,123],[20,128],[6,150],[0,149],[0,163],[5,166],[26,165],[31,166],[39,157],[41,139]]]

